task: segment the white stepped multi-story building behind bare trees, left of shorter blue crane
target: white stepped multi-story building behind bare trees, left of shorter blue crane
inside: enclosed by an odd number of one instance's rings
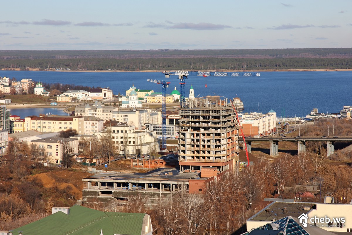
[[[112,141],[119,147],[120,154],[147,154],[159,150],[155,131],[139,130],[134,125],[121,124],[96,132],[95,135],[101,138],[108,131],[111,131]]]

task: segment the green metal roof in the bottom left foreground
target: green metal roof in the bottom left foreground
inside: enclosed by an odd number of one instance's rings
[[[140,235],[144,216],[140,213],[102,212],[75,205],[68,215],[58,211],[14,229],[13,234],[22,231],[24,235],[100,235],[102,230],[104,235]]]

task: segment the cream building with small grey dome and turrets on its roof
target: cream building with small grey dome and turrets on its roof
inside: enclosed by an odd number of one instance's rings
[[[95,116],[105,121],[113,120],[113,111],[118,110],[117,107],[105,106],[99,101],[95,101],[92,105],[81,104],[75,108],[75,115]]]

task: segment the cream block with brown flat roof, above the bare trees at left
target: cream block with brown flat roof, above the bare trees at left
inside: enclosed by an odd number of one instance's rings
[[[29,142],[38,146],[41,162],[60,163],[65,153],[78,153],[78,139],[74,138],[48,137]]]

